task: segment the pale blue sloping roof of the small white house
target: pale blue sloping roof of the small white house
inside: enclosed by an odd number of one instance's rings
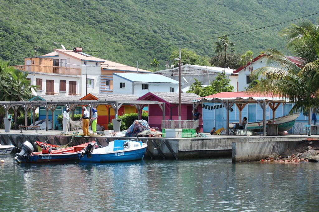
[[[129,80],[131,82],[155,82],[155,83],[179,83],[176,80],[173,80],[169,77],[163,75],[154,74],[126,74],[126,73],[113,73],[123,79]]]

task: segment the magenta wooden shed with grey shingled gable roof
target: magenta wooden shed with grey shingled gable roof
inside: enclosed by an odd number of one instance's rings
[[[181,119],[193,120],[193,100],[201,98],[194,93],[181,93]],[[178,120],[178,93],[171,92],[149,92],[137,100],[165,102],[165,120]],[[201,105],[197,111],[202,113]],[[148,124],[150,127],[158,127],[161,130],[163,120],[162,110],[159,105],[149,105]],[[203,131],[203,119],[199,121],[199,131]]]

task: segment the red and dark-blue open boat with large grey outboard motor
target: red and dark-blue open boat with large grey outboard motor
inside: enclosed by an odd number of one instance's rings
[[[95,146],[95,142],[89,142]],[[25,141],[22,144],[22,150],[17,153],[15,160],[18,163],[45,163],[45,162],[61,162],[69,160],[78,160],[78,154],[89,144],[81,144],[77,146],[52,150],[47,144],[41,145],[41,152],[33,152],[33,145]]]

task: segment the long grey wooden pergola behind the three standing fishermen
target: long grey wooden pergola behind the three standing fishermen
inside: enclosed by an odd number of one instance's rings
[[[138,111],[138,118],[141,119],[142,116],[142,109],[145,105],[148,104],[158,104],[160,108],[163,111],[163,119],[165,119],[165,102],[158,102],[158,101],[125,101],[125,100],[72,100],[72,101],[67,101],[67,100],[59,100],[59,101],[10,101],[10,102],[1,102],[0,101],[0,106],[4,107],[5,110],[5,117],[8,117],[8,111],[12,108],[14,110],[14,120],[15,120],[15,129],[17,129],[17,111],[19,110],[20,107],[22,107],[25,110],[25,126],[27,126],[27,113],[28,110],[32,110],[33,112],[33,124],[35,123],[35,110],[43,106],[46,110],[46,131],[48,131],[48,113],[49,110],[51,110],[52,114],[54,110],[56,110],[57,106],[66,106],[67,108],[70,109],[72,112],[72,120],[74,118],[74,110],[78,106],[89,106],[90,108],[97,107],[98,105],[111,105],[112,108],[115,111],[115,114],[118,113],[119,108],[122,105],[134,105]],[[54,119],[52,118],[52,130],[54,130]],[[26,128],[27,130],[27,128]]]

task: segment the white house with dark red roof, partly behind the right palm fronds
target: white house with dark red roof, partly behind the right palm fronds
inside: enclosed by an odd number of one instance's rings
[[[298,61],[298,57],[290,57],[286,56],[290,61],[295,63],[297,66],[300,66],[300,62]],[[266,65],[267,58],[260,54],[258,55],[252,62],[253,71],[267,66]],[[238,91],[244,91],[249,86],[251,82],[250,75],[251,71],[249,71],[250,62],[246,66],[242,66],[237,68],[234,73],[238,74]]]

